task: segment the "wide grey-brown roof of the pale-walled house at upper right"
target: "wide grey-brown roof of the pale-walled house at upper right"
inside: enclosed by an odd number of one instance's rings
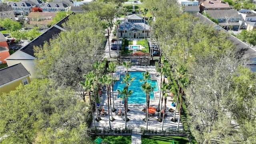
[[[236,10],[204,10],[212,18],[240,18]]]

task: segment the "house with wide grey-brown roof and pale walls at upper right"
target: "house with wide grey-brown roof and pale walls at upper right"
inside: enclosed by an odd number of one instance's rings
[[[204,10],[210,17],[217,19],[219,26],[225,29],[237,30],[240,28],[242,21],[236,10]]]

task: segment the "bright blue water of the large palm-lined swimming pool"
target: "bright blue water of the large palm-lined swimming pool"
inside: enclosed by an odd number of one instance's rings
[[[129,72],[131,74],[131,77],[136,77],[136,79],[132,82],[131,86],[128,87],[128,90],[133,90],[132,96],[128,97],[128,104],[145,104],[146,103],[146,94],[141,89],[141,85],[143,82],[140,82],[140,79],[142,78],[142,72]],[[121,84],[122,76],[124,77],[124,74],[120,75],[120,80],[114,82],[114,90],[123,90],[125,84]],[[151,82],[151,86],[155,86],[154,91],[158,92],[158,84],[156,80],[148,80],[148,82]],[[119,98],[119,96],[118,96]],[[152,92],[150,94],[150,99],[154,98],[154,93]]]

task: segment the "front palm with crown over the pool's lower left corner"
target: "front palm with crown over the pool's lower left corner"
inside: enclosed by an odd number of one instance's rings
[[[123,88],[123,90],[117,90],[118,94],[120,95],[119,98],[124,100],[124,121],[125,121],[125,129],[127,128],[127,105],[126,101],[128,100],[128,97],[132,95],[133,90],[129,90],[126,88],[126,86]]]

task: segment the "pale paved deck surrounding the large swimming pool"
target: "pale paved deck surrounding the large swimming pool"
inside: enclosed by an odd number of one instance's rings
[[[132,68],[128,69],[129,71],[146,71],[150,73],[152,80],[157,80],[158,86],[160,87],[160,76],[156,73],[155,66],[132,66]],[[126,68],[124,66],[117,66],[117,72],[113,74],[114,77],[117,77],[117,79],[120,79],[120,74],[125,74]],[[159,88],[160,89],[160,88]],[[106,90],[105,90],[106,91]],[[159,102],[159,94],[160,92],[154,92],[154,99],[150,99],[150,106],[153,106],[154,108],[158,107]],[[106,92],[102,93],[102,106],[104,107],[104,110],[107,112],[107,95]],[[167,103],[166,103],[166,112],[167,117],[164,119],[164,130],[173,129],[176,130],[178,122],[172,122],[171,119],[174,116],[174,112],[171,113],[168,111],[168,109],[172,108],[175,109],[175,107],[171,106],[171,97],[168,96]],[[117,92],[114,92],[114,106],[116,110],[124,110],[124,105],[122,104],[122,100],[117,98]],[[164,106],[164,102],[163,102]],[[162,106],[162,108],[163,108]],[[112,104],[113,107],[113,104]],[[143,121],[146,114],[142,111],[143,108],[146,108],[146,104],[129,104],[128,108],[130,109],[129,112],[127,112],[127,117],[130,119],[130,121],[127,122],[127,127],[134,129],[134,130],[140,130],[140,127],[146,128],[146,122]],[[124,128],[125,122],[124,122],[124,116],[118,117],[115,115],[115,112],[112,112],[113,118],[115,119],[113,122],[111,122],[112,128]],[[94,112],[94,116],[97,116],[96,112]],[[178,120],[179,114],[176,112],[176,120]],[[109,122],[108,122],[108,115],[101,116],[101,119],[99,122],[95,121],[96,127],[98,128],[109,128]],[[152,130],[161,130],[162,128],[162,122],[158,122],[158,112],[155,113],[152,118],[148,118],[148,129]],[[93,123],[91,124],[93,126]],[[183,130],[182,123],[179,124],[179,130]]]

